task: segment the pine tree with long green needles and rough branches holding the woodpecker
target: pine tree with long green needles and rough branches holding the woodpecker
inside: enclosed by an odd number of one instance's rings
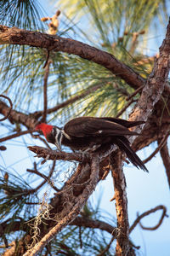
[[[59,2],[61,9],[56,6],[51,16],[37,1],[0,2],[1,252],[135,255],[139,247],[131,231],[141,218],[162,210],[153,227],[158,228],[167,210],[155,207],[129,227],[126,156],[112,148],[103,158],[86,156],[85,164],[80,153],[53,150],[34,127],[62,126],[83,115],[143,120],[134,130],[142,136],[129,137],[130,143],[135,151],[158,143],[145,162],[160,151],[170,185],[167,3]],[[165,32],[160,51],[150,54],[149,39],[160,30]],[[88,198],[109,173],[116,216],[104,220],[99,204]]]

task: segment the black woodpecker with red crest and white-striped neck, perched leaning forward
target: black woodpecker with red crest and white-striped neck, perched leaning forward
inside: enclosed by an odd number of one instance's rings
[[[125,135],[138,135],[137,132],[129,131],[127,128],[141,124],[144,122],[110,117],[79,117],[71,119],[63,129],[42,123],[37,125],[35,130],[41,130],[48,143],[53,143],[59,150],[61,145],[65,145],[73,151],[105,152],[111,145],[116,144],[127,154],[127,158],[134,166],[148,172],[125,137]]]

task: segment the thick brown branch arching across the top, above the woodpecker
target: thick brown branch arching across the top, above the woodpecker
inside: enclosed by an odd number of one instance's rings
[[[144,84],[144,79],[139,73],[118,61],[113,55],[70,38],[59,38],[41,32],[31,32],[17,27],[10,28],[0,25],[0,44],[30,45],[78,55],[109,69],[111,73],[120,79],[124,79],[135,90]]]

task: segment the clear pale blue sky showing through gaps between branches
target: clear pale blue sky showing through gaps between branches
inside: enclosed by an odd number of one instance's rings
[[[48,4],[48,1],[41,1],[43,8],[48,15],[54,15],[54,8]],[[162,36],[163,33],[161,33]],[[151,36],[151,35],[150,35]],[[150,37],[151,38],[151,37]],[[161,39],[159,40],[159,42]],[[150,41],[150,48],[157,51],[157,43]],[[28,137],[28,136],[27,136]],[[22,140],[17,138],[14,140],[14,144],[7,143],[8,150],[3,153],[3,158],[0,158],[0,166],[10,166],[14,163],[14,169],[20,172],[23,166],[30,165],[27,161],[27,149],[16,150],[20,147]],[[16,147],[17,145],[17,147]],[[168,142],[170,146],[170,141]],[[144,160],[146,156],[150,155],[156,143],[150,145],[144,150],[138,152],[139,157]],[[20,154],[19,154],[20,152]],[[9,157],[11,155],[12,157]],[[26,160],[24,160],[26,157]],[[18,162],[20,158],[23,161]],[[138,170],[133,166],[127,166],[125,164],[124,172],[127,180],[127,201],[128,201],[128,214],[129,224],[133,224],[135,218],[137,218],[137,212],[140,214],[154,208],[158,205],[164,205],[167,207],[167,215],[170,216],[170,193],[167,183],[167,177],[165,174],[164,166],[162,165],[160,154],[150,160],[146,164],[149,173]],[[12,168],[12,166],[11,166]],[[36,181],[36,183],[38,183]],[[101,192],[102,191],[102,192]],[[100,208],[109,212],[111,216],[116,216],[115,202],[110,201],[113,197],[114,189],[112,183],[112,177],[109,175],[105,181],[100,182],[95,193],[91,196],[90,201],[95,205],[99,200],[102,193],[102,199],[100,202]],[[142,224],[145,226],[154,226],[158,223],[161,216],[161,211],[150,214],[150,216],[142,219]],[[133,230],[131,238],[136,246],[140,246],[139,255],[144,256],[169,256],[170,255],[170,221],[169,218],[164,218],[161,227],[158,230],[141,230],[139,225]]]

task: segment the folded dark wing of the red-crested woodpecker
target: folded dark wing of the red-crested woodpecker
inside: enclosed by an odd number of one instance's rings
[[[138,135],[108,119],[93,117],[72,119],[65,125],[64,131],[74,137]]]

